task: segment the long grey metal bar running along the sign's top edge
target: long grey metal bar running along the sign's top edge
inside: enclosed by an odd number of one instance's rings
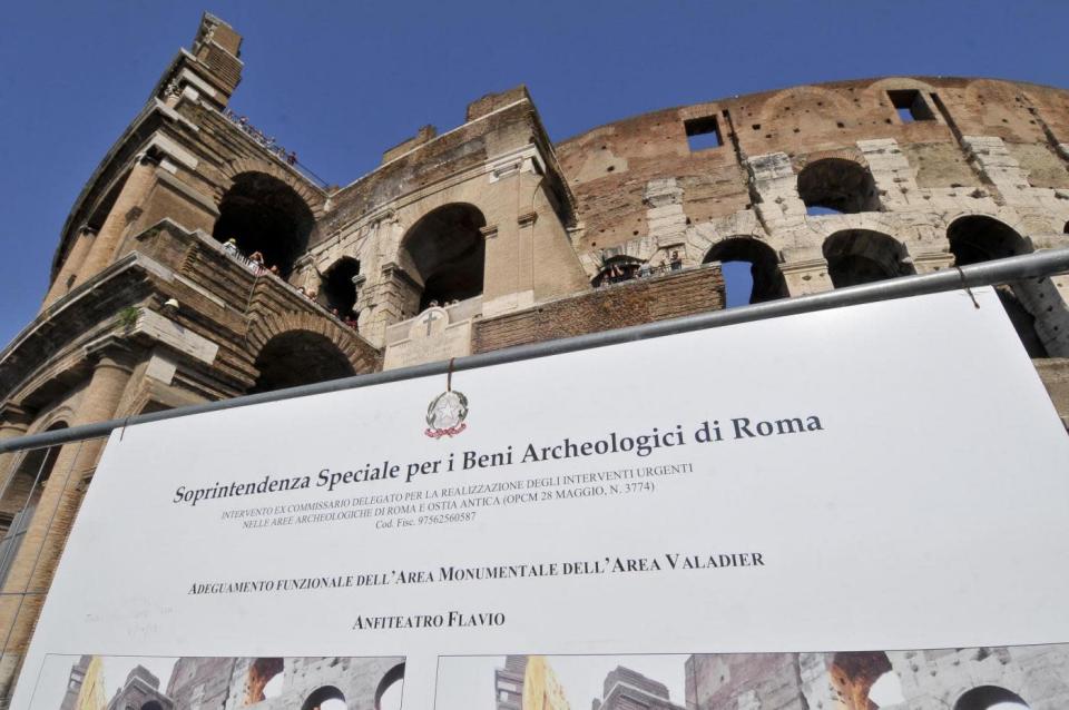
[[[543,341],[529,345],[517,345],[514,347],[508,347],[500,351],[479,353],[478,355],[468,355],[465,357],[458,357],[455,361],[453,361],[453,372],[475,369],[479,367],[488,367],[490,365],[502,365],[504,363],[516,363],[524,359],[548,357],[550,355],[561,355],[563,353],[575,353],[577,351],[604,347],[606,345],[644,341],[647,338],[674,335],[677,333],[715,328],[724,325],[751,323],[754,321],[765,321],[768,318],[778,318],[781,316],[796,315],[801,313],[840,308],[842,306],[853,306],[857,304],[874,303],[877,300],[935,294],[945,290],[957,290],[964,287],[972,288],[977,286],[988,286],[992,284],[1022,280],[1027,278],[1041,278],[1050,276],[1051,274],[1058,274],[1067,270],[1069,270],[1069,248],[1049,249],[1034,254],[1027,254],[1023,256],[1013,256],[1004,259],[984,262],[982,264],[973,264],[971,266],[963,266],[961,268],[949,268],[941,272],[934,272],[932,274],[903,276],[900,278],[892,278],[873,284],[864,284],[862,286],[836,288],[834,290],[813,294],[810,296],[797,296],[794,298],[783,298],[779,300],[771,300],[751,306],[739,306],[737,308],[727,308],[724,310],[712,310],[693,316],[671,318],[669,321],[644,323],[641,325],[618,328],[615,331],[590,333],[587,335],[577,335],[556,341]],[[29,436],[19,436],[17,438],[4,440],[0,442],[0,453],[19,451],[23,448],[51,446],[53,444],[63,444],[72,441],[106,436],[110,434],[112,430],[122,426],[133,426],[148,422],[173,420],[193,414],[204,414],[205,412],[233,410],[236,407],[248,406],[251,404],[262,404],[264,402],[292,400],[307,395],[323,394],[325,392],[339,392],[342,389],[370,387],[388,382],[401,382],[404,379],[414,379],[416,377],[426,377],[429,375],[443,375],[448,371],[448,361],[426,363],[424,365],[415,365],[412,367],[370,373],[366,375],[355,375],[353,377],[344,377],[341,379],[331,379],[312,385],[301,385],[298,387],[291,387],[288,389],[276,389],[274,392],[244,395],[231,400],[207,402],[205,404],[167,410],[164,412],[139,414],[125,420],[110,420],[107,422],[84,424],[81,426],[71,426],[65,430],[41,432],[39,434],[31,434]]]

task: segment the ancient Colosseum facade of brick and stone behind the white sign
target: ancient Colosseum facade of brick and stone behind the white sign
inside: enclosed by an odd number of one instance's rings
[[[853,80],[555,144],[521,86],[332,187],[228,108],[241,45],[205,14],[89,176],[0,436],[715,310],[739,264],[762,302],[1069,245],[1061,89]],[[1069,421],[1069,277],[999,293]],[[0,455],[0,697],[101,447]]]

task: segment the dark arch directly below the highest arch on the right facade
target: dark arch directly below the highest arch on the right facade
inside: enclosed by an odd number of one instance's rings
[[[846,229],[824,240],[827,274],[835,288],[914,274],[902,244],[879,231]]]

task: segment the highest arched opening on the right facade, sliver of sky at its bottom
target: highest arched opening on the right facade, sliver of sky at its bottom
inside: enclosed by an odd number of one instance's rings
[[[880,211],[872,174],[843,158],[823,158],[798,172],[798,197],[810,215]]]

